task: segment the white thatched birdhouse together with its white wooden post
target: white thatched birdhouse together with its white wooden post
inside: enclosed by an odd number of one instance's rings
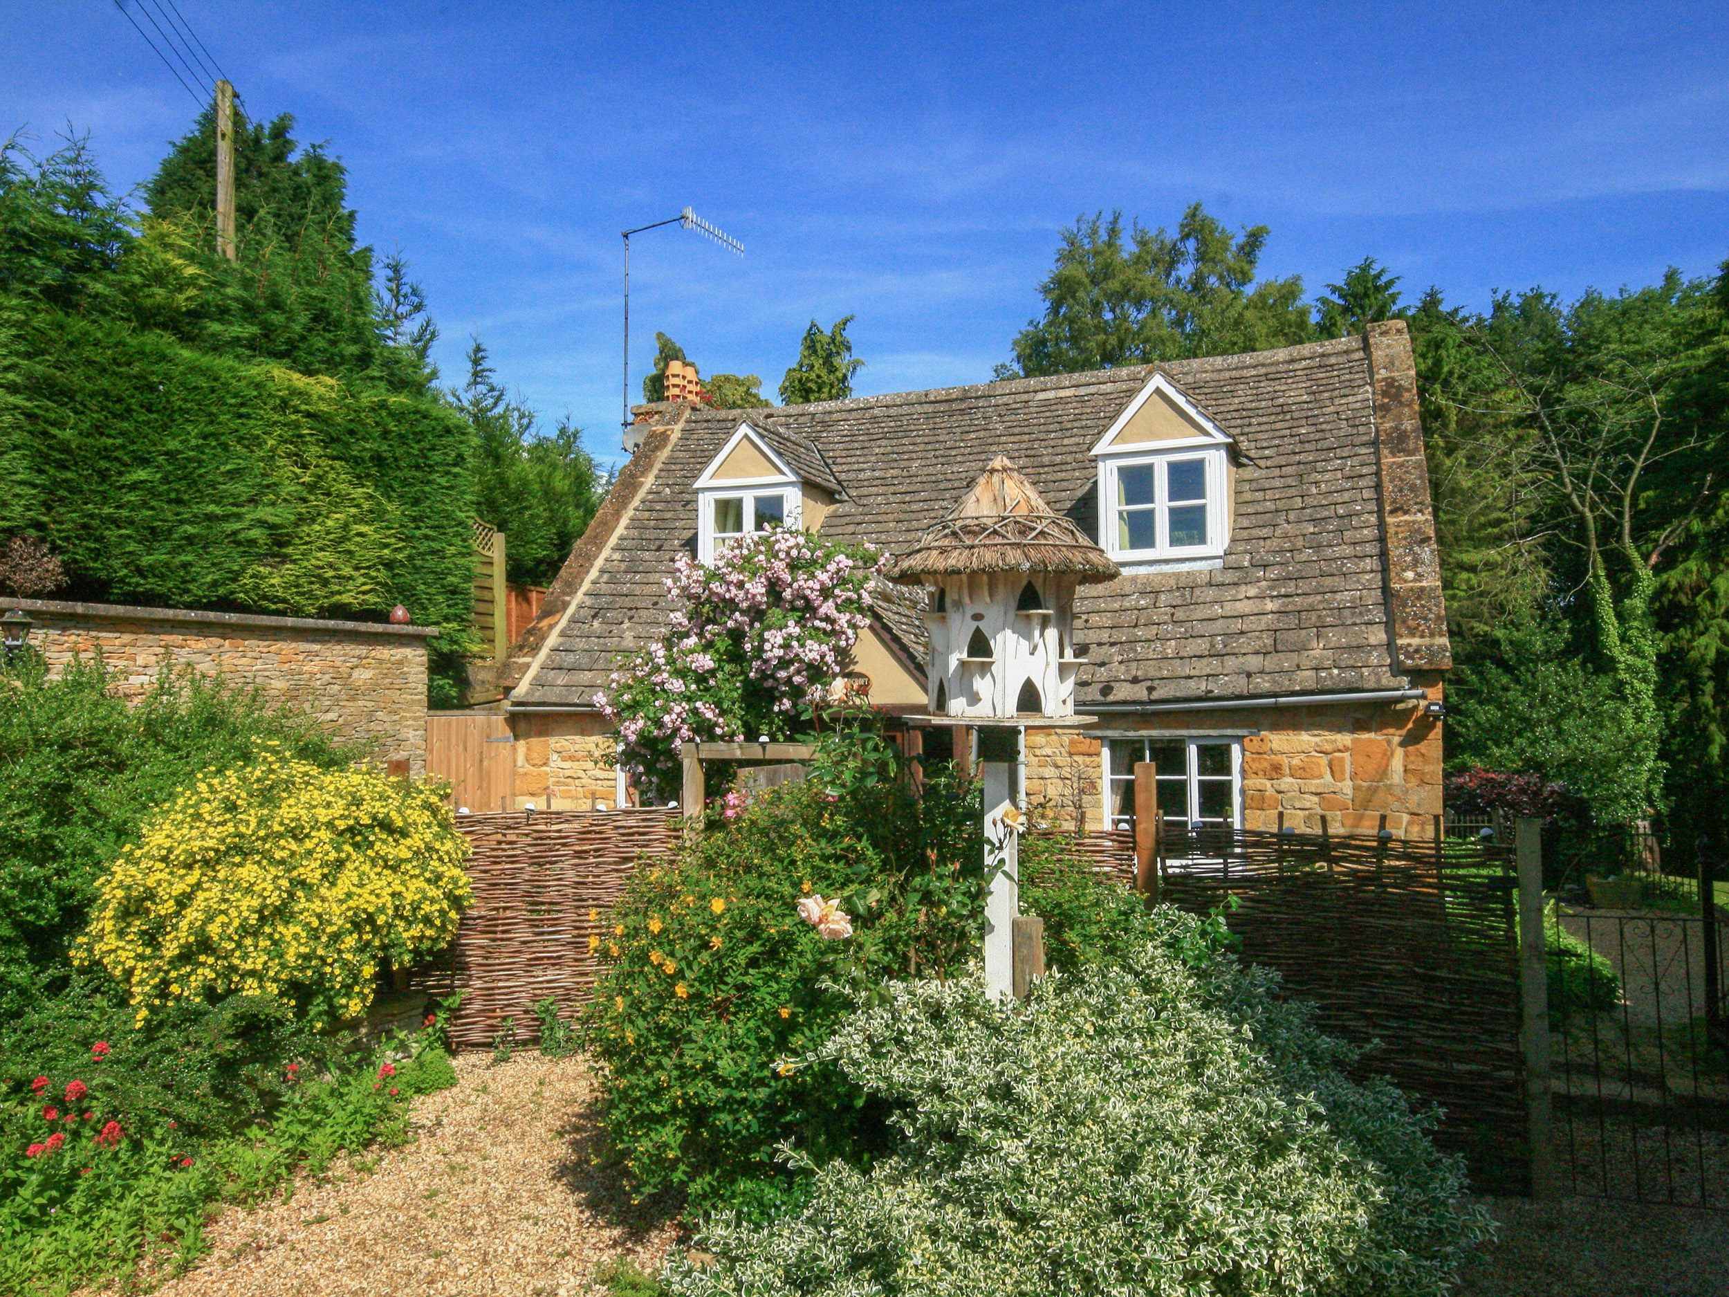
[[[991,873],[984,972],[992,996],[1010,994],[1020,908],[1017,844],[1025,825],[1011,797],[1020,732],[1093,721],[1075,716],[1074,597],[1081,585],[1113,581],[1117,564],[998,455],[949,515],[889,564],[887,576],[935,588],[925,614],[927,719],[979,726]],[[1030,927],[1022,927],[1032,939]]]

